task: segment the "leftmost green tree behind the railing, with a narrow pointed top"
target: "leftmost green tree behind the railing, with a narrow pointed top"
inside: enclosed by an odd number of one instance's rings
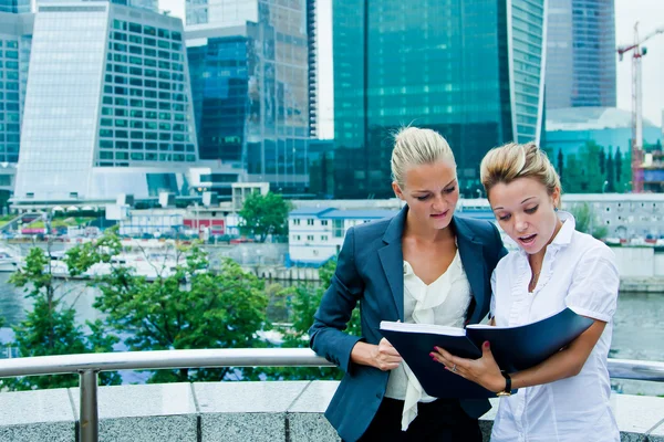
[[[10,277],[10,283],[22,287],[25,297],[32,299],[33,308],[19,325],[13,327],[21,357],[73,355],[84,352],[112,351],[117,338],[106,335],[100,320],[87,322],[90,334],[76,324],[75,309],[62,298],[70,294],[56,284],[51,272],[51,255],[40,248],[32,248],[25,257],[25,265]],[[116,372],[103,372],[102,385],[118,385]],[[32,376],[2,381],[10,390],[64,388],[79,385],[76,375]]]

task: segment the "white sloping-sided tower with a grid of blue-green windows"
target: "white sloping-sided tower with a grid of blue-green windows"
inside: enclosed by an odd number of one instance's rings
[[[107,2],[39,6],[19,203],[187,191],[198,149],[183,31]]]

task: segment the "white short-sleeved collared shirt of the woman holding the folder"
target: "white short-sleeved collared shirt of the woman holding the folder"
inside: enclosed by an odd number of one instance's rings
[[[563,224],[547,246],[532,292],[526,252],[511,252],[496,266],[491,276],[496,325],[529,324],[570,307],[606,326],[579,375],[521,388],[500,400],[492,442],[620,441],[606,368],[620,284],[615,256],[601,241],[575,231],[570,213],[558,213]]]

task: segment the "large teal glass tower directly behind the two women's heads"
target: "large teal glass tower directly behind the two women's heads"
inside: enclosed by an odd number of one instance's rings
[[[541,126],[544,0],[335,1],[334,197],[388,198],[392,134],[438,130],[461,192],[479,162]]]

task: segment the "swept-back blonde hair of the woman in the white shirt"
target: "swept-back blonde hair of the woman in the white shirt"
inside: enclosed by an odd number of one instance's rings
[[[535,143],[509,143],[487,152],[479,167],[479,177],[487,196],[500,182],[509,185],[518,178],[532,178],[541,182],[549,194],[560,188],[560,178],[547,154]]]

